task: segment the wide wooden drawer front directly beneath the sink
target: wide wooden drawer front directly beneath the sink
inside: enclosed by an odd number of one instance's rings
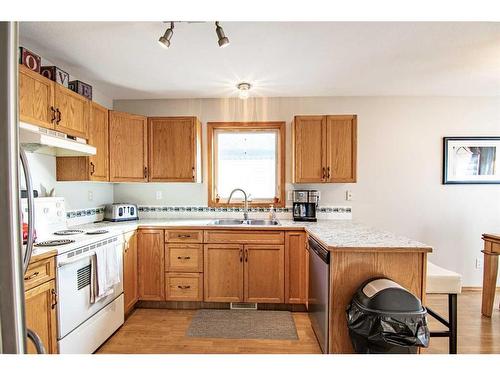
[[[251,244],[276,244],[282,245],[285,242],[284,234],[281,231],[227,231],[213,230],[205,231],[206,243],[251,243]]]

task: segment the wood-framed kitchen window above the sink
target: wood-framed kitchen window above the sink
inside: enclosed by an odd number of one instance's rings
[[[224,207],[231,191],[243,189],[249,206],[284,207],[285,123],[208,123],[208,201]],[[236,192],[230,206],[243,203]]]

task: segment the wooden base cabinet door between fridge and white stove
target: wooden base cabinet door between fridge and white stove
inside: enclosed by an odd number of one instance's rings
[[[56,283],[54,280],[28,290],[25,296],[26,327],[40,336],[47,353],[57,353]],[[28,353],[36,353],[28,340]]]

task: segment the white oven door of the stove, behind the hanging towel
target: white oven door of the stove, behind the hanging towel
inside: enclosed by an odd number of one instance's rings
[[[90,303],[90,278],[92,276],[90,257],[93,252],[89,251],[84,257],[71,262],[65,260],[58,265],[57,290],[59,301],[57,313],[59,340],[123,293],[122,244],[116,243],[112,246],[117,252],[120,264],[120,282],[113,287],[114,292],[112,294],[98,302]]]

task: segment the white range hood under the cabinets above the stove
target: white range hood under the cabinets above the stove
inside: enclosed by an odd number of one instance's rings
[[[19,123],[19,143],[30,152],[53,156],[91,156],[96,148],[84,139],[72,139],[68,135],[41,128],[26,122]]]

